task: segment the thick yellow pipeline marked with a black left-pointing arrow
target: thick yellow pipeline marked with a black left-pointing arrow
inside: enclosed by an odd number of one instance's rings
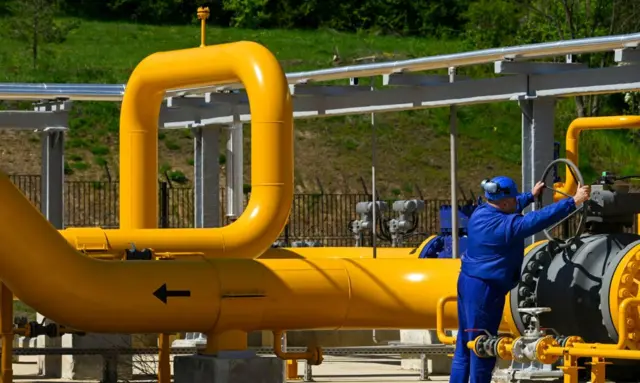
[[[435,328],[438,299],[455,294],[460,270],[455,259],[101,261],[69,246],[5,174],[0,200],[0,280],[44,316],[88,332]],[[22,277],[33,273],[40,278]],[[161,286],[190,297],[165,304],[154,296]],[[455,305],[443,327],[457,328]]]

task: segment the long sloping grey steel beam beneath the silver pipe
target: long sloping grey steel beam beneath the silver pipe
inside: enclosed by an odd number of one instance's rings
[[[530,68],[535,63],[522,64]],[[398,80],[398,77],[404,79]],[[364,86],[292,86],[294,116],[295,118],[313,118],[395,112],[447,105],[640,90],[640,66],[638,65],[559,70],[556,73],[508,75],[410,86],[425,84],[423,77],[427,76],[392,75],[389,79],[390,83],[395,82],[405,86],[387,86],[374,91]],[[431,76],[429,79],[432,79]],[[299,95],[299,87],[303,95]],[[349,88],[354,89],[350,91]],[[163,108],[160,115],[161,124],[166,128],[180,128],[191,123],[230,124],[234,121],[232,113],[234,108],[237,108],[240,121],[251,120],[248,98],[242,91],[230,94],[207,94],[203,97],[170,97],[167,99],[167,105],[168,107]]]

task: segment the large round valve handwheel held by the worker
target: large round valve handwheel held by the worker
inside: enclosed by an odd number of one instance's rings
[[[569,172],[571,173],[573,178],[576,181],[578,181],[578,183],[580,185],[584,185],[584,179],[582,178],[582,173],[580,173],[580,169],[578,169],[578,167],[573,162],[571,162],[570,160],[568,160],[566,158],[558,158],[556,160],[551,161],[549,163],[549,165],[547,165],[547,168],[542,173],[542,177],[540,178],[541,182],[545,182],[545,180],[547,179],[547,176],[549,175],[549,173],[553,169],[554,165],[556,165],[558,163],[563,163],[563,164],[567,165],[567,167],[569,169]],[[556,189],[554,189],[552,187],[546,186],[546,182],[545,182],[544,189],[551,190],[554,193],[559,193],[559,194],[565,195],[567,197],[572,197],[572,196],[570,196],[570,195],[568,195],[568,194],[566,194],[564,192],[561,192],[561,191],[556,190]],[[544,189],[543,189],[543,192],[540,193],[538,195],[538,198],[536,199],[536,210],[539,210],[539,209],[542,208],[542,200],[543,200],[543,195],[544,195]],[[549,227],[547,227],[546,229],[543,230],[544,236],[547,237],[547,239],[549,240],[549,243],[553,243],[558,248],[564,249],[564,248],[567,248],[567,247],[571,246],[578,238],[580,238],[580,235],[584,231],[586,215],[587,215],[587,209],[586,209],[585,205],[586,205],[586,202],[583,203],[582,205],[578,206],[576,208],[576,210],[571,212],[571,214],[566,216],[560,222],[555,223],[555,224],[553,224],[553,225],[551,225],[551,226],[549,226]],[[551,235],[551,231],[553,229],[555,229],[561,223],[565,222],[566,220],[568,220],[569,218],[573,217],[574,215],[579,217],[579,221],[578,221],[578,228],[576,229],[576,234],[575,234],[575,236],[573,236],[572,239],[562,239],[562,238],[554,237],[553,235]]]

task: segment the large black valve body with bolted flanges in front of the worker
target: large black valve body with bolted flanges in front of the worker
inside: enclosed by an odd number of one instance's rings
[[[584,184],[576,165],[567,159],[552,161],[542,180],[559,163],[566,164],[577,182]],[[580,336],[589,343],[619,341],[619,307],[624,299],[638,296],[640,284],[640,235],[625,232],[640,213],[640,193],[630,191],[624,182],[632,177],[603,172],[591,185],[590,199],[572,214],[577,217],[575,235],[563,239],[553,233],[553,227],[547,228],[544,234],[548,241],[534,244],[526,252],[521,281],[508,298],[513,333],[531,335],[531,329],[539,327],[537,316],[543,312],[539,308],[546,307],[542,321],[558,334]],[[542,194],[537,208],[541,207]],[[626,315],[626,328],[622,329],[626,339],[620,341],[625,349],[638,350],[638,310],[629,309]],[[538,339],[547,336],[537,335]],[[478,338],[478,342],[485,341]],[[518,355],[527,355],[527,347],[523,345]],[[513,356],[519,361],[516,349],[520,348],[514,343]],[[616,360],[607,368],[607,378],[611,379],[636,377],[639,373],[640,361],[636,360]]]

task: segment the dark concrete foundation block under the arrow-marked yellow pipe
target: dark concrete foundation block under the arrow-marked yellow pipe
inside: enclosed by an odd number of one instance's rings
[[[174,383],[284,383],[284,364],[272,356],[184,355],[173,359]]]

